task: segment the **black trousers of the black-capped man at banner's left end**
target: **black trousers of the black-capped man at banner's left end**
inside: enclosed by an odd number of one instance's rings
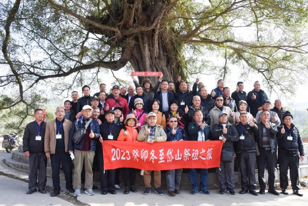
[[[97,156],[99,163],[99,181],[101,191],[111,191],[115,189],[115,170],[104,170],[103,154]]]

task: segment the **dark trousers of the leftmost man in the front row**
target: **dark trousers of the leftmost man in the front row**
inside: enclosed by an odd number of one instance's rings
[[[29,190],[33,191],[36,187],[45,190],[47,157],[44,152],[30,153],[29,155]],[[39,174],[38,174],[39,170]]]

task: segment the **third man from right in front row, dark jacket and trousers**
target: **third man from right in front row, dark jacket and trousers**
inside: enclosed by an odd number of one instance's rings
[[[249,192],[257,196],[254,170],[256,164],[255,136],[257,135],[258,127],[253,122],[247,122],[248,115],[246,111],[241,111],[239,118],[240,123],[236,124],[235,128],[240,139],[234,142],[234,156],[239,160],[240,164],[242,185],[240,194]]]

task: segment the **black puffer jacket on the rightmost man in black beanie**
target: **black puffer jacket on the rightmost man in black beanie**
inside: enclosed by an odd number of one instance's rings
[[[302,137],[299,134],[299,130],[297,127],[295,127],[294,124],[291,124],[291,129],[287,128],[287,126],[283,123],[282,124],[285,129],[285,133],[281,133],[282,126],[278,127],[278,133],[276,135],[276,138],[278,140],[278,150],[279,149],[298,149],[299,155],[305,156],[304,153],[304,145],[302,141]],[[291,134],[290,134],[291,132]],[[293,137],[292,140],[287,140],[287,137],[291,135]]]

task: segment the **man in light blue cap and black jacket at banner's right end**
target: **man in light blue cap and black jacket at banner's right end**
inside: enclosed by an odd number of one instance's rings
[[[233,142],[239,140],[237,130],[234,125],[228,122],[228,114],[226,112],[221,111],[218,118],[219,124],[214,124],[212,129],[212,139],[221,140],[223,143],[222,149],[231,149],[234,151]],[[233,190],[235,186],[233,157],[231,162],[220,161],[217,176],[220,187],[219,194],[225,194],[227,187],[227,192],[229,192],[230,195],[235,195],[235,191]]]

